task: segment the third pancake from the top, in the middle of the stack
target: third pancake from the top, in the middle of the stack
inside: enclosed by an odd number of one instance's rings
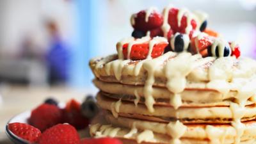
[[[119,100],[109,99],[97,95],[97,104],[100,108],[111,111],[116,117],[118,115],[142,118],[145,120],[161,120],[162,122],[168,120],[180,120],[181,122],[191,123],[217,123],[227,124],[233,120],[233,113],[229,106],[212,106],[212,107],[193,107],[193,108],[179,108],[174,109],[166,106],[154,106],[155,111],[152,113],[148,111],[144,104],[134,106],[132,102],[120,102]],[[242,121],[254,120],[256,116],[256,106],[248,105],[244,109],[244,116]]]

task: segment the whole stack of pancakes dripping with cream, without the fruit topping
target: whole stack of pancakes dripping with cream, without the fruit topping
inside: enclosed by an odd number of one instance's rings
[[[187,51],[124,59],[123,45],[136,42],[122,40],[118,54],[90,61],[103,110],[102,122],[90,127],[93,137],[124,143],[256,143],[256,61]],[[153,42],[156,38],[148,41],[149,50]]]

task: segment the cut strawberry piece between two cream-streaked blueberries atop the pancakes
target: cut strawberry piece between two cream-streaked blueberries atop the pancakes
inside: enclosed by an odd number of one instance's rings
[[[200,39],[198,39],[200,37]],[[196,45],[197,44],[197,45]],[[191,38],[190,51],[192,54],[200,52],[202,56],[207,56],[207,48],[212,45],[210,36],[196,36]]]

